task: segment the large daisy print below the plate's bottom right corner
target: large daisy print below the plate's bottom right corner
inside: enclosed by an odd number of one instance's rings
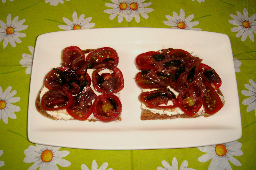
[[[200,151],[206,152],[206,154],[198,158],[198,161],[207,162],[212,159],[208,170],[231,170],[232,168],[229,162],[236,166],[242,165],[233,157],[243,155],[243,152],[240,150],[241,147],[242,144],[237,141],[219,145],[198,147]]]

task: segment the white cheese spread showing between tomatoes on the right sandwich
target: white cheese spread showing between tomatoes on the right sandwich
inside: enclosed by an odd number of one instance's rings
[[[175,91],[170,86],[168,86],[167,88],[169,88],[169,90],[172,91],[176,95],[176,98],[178,97],[179,92]],[[157,88],[154,88],[154,89],[142,89],[142,92],[153,91],[153,90],[157,90]],[[224,97],[221,96],[221,95],[219,95],[219,97],[221,98],[221,101],[223,103],[224,102]],[[167,105],[172,105],[172,102],[168,102]],[[176,108],[173,108],[173,109],[151,109],[151,108],[146,107],[146,105],[142,103],[141,104],[141,108],[149,110],[149,111],[151,111],[154,114],[157,114],[157,113],[160,114],[160,115],[166,114],[167,116],[172,116],[172,115],[177,115],[177,114],[183,114],[184,113],[179,107],[176,107]],[[205,113],[205,109],[202,106],[195,115],[202,115],[203,113]]]

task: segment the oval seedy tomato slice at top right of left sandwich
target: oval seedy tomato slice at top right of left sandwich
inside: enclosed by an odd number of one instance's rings
[[[89,68],[98,69],[104,66],[117,66],[117,52],[110,47],[98,48],[86,56],[86,61],[90,63]]]

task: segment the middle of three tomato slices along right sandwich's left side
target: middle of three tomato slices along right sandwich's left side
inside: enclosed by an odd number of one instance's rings
[[[169,77],[170,75],[164,74],[160,72],[161,74],[158,74],[158,78],[162,80],[163,82],[168,82],[169,86]],[[143,71],[137,73],[135,77],[136,83],[138,84],[139,87],[141,88],[160,88],[160,87],[165,87],[163,84],[156,83],[154,81],[151,81],[149,78],[146,78],[146,74],[143,73]]]

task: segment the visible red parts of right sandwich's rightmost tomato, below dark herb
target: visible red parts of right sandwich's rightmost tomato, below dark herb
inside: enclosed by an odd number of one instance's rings
[[[212,68],[206,64],[203,64],[203,63],[200,63],[198,69],[197,69],[197,72],[200,72],[200,71],[208,71],[208,70],[211,70]],[[221,78],[219,77],[219,75],[216,73],[216,71],[214,70],[214,76],[213,78],[211,78],[211,80],[209,81],[209,83],[211,84],[211,86],[217,90],[219,89],[219,87],[221,87],[221,84],[222,84],[222,80]]]

